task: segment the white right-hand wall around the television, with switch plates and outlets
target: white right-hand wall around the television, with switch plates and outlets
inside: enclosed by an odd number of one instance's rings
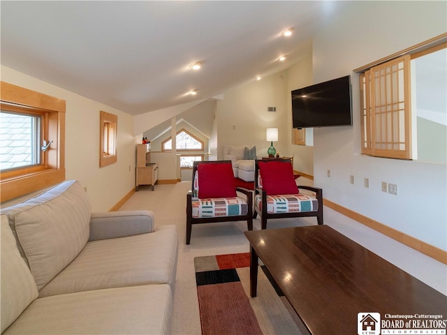
[[[316,186],[328,200],[444,250],[446,165],[360,156],[359,83],[352,70],[443,34],[446,4],[352,1],[313,40],[314,82],[351,74],[353,84],[353,126],[314,129]],[[381,181],[397,184],[398,195],[383,193]]]

